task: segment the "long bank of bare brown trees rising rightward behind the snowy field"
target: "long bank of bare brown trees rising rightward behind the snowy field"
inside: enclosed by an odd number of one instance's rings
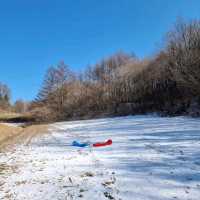
[[[200,21],[177,21],[151,58],[117,52],[74,73],[48,69],[31,113],[55,121],[157,112],[200,114]]]

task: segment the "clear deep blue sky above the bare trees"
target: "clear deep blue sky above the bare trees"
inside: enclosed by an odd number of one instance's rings
[[[177,17],[200,19],[199,0],[7,0],[0,2],[0,81],[32,100],[46,69],[84,69],[115,51],[154,54]]]

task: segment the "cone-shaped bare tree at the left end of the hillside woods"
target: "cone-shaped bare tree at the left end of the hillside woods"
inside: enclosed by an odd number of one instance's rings
[[[68,85],[73,80],[75,80],[75,75],[64,62],[56,67],[50,67],[35,102],[42,106],[46,105],[56,115],[62,115],[69,92]]]

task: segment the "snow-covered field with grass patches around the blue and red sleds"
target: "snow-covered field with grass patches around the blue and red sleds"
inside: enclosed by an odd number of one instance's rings
[[[73,140],[113,140],[75,148]],[[0,154],[0,199],[199,200],[200,120],[119,117],[63,122]]]

